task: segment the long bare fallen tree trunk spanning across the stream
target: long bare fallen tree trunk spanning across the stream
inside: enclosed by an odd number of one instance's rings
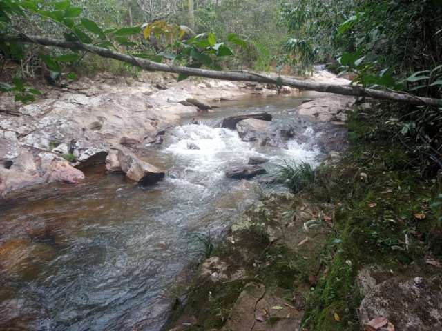
[[[268,75],[255,74],[253,72],[236,72],[236,71],[216,71],[199,68],[189,68],[182,66],[173,66],[164,63],[156,63],[147,59],[133,57],[132,55],[115,52],[107,48],[101,48],[84,43],[64,41],[61,39],[52,39],[38,36],[20,36],[8,37],[0,36],[0,41],[12,43],[35,43],[42,46],[55,46],[59,48],[68,48],[71,50],[83,50],[97,54],[100,57],[107,57],[116,59],[126,63],[131,63],[133,66],[140,67],[144,70],[172,72],[177,74],[184,74],[187,76],[207,77],[212,79],[222,79],[227,81],[255,81],[258,83],[272,83],[282,84],[283,86],[291,86],[300,90],[311,90],[317,92],[328,92],[334,94],[349,95],[354,97],[371,97],[374,99],[399,101],[411,103],[413,105],[427,105],[442,107],[442,99],[433,99],[427,97],[416,97],[412,94],[400,92],[387,92],[383,90],[372,90],[369,88],[361,88],[359,86],[340,86],[325,83],[314,83],[311,81],[303,81],[300,79],[289,79],[282,77],[280,80],[276,77]]]

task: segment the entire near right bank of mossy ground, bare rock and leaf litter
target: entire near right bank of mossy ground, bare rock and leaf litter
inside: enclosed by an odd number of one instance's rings
[[[376,107],[349,116],[349,149],[309,188],[238,215],[165,330],[441,328],[441,181],[373,134]]]

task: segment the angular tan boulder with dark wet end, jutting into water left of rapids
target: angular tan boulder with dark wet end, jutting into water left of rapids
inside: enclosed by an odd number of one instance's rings
[[[142,186],[153,185],[164,178],[164,172],[142,161],[131,152],[118,151],[118,161],[128,179]]]

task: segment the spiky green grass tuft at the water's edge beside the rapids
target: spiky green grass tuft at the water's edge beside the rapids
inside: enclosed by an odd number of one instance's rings
[[[310,163],[285,161],[283,165],[278,167],[278,177],[293,192],[297,193],[314,183],[316,173]]]

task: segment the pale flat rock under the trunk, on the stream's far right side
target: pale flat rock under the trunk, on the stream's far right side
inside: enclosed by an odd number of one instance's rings
[[[344,122],[347,112],[352,111],[354,97],[330,96],[321,97],[298,107],[298,114],[310,121]]]

